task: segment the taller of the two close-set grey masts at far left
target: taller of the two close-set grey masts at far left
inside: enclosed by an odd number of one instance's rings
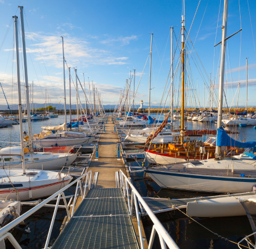
[[[32,128],[31,128],[31,119],[30,119],[30,92],[28,87],[28,68],[27,68],[27,53],[26,53],[26,42],[25,42],[25,30],[23,22],[23,7],[20,7],[20,23],[22,26],[22,48],[23,48],[23,61],[24,61],[24,74],[25,74],[25,86],[26,86],[26,100],[27,100],[27,114],[28,114],[28,146],[30,152],[33,152],[32,148]]]

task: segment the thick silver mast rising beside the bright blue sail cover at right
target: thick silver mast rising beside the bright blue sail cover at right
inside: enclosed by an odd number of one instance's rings
[[[223,88],[225,76],[225,57],[226,57],[226,28],[228,21],[228,0],[224,0],[223,23],[222,23],[222,39],[221,39],[221,61],[220,61],[220,86],[219,86],[219,101],[218,101],[218,120],[217,120],[217,135],[218,128],[221,127],[222,119],[222,103],[223,103]],[[220,156],[220,146],[216,146],[216,156]]]

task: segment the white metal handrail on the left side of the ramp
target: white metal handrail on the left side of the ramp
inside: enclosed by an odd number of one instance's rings
[[[8,238],[10,240],[10,243],[12,243],[12,245],[14,246],[15,249],[22,249],[22,247],[20,247],[17,240],[15,240],[14,237],[12,236],[12,234],[9,233],[10,229],[12,229],[13,227],[20,224],[23,220],[27,219],[30,215],[33,215],[33,213],[35,213],[40,208],[46,206],[47,203],[51,202],[51,200],[54,200],[57,197],[56,205],[54,205],[55,208],[54,208],[54,213],[52,215],[51,225],[49,227],[49,232],[47,234],[46,243],[44,245],[45,249],[48,248],[48,244],[49,244],[49,241],[51,238],[51,233],[52,233],[52,227],[54,225],[54,220],[56,218],[58,207],[63,207],[63,206],[59,205],[61,196],[63,197],[63,200],[64,200],[64,205],[65,205],[65,209],[67,211],[68,220],[70,220],[70,218],[72,218],[73,213],[75,211],[75,204],[76,204],[76,200],[77,200],[77,197],[79,196],[79,194],[81,195],[82,199],[85,199],[86,188],[88,187],[88,189],[91,189],[91,173],[92,172],[90,170],[89,172],[85,173],[84,175],[81,175],[75,181],[72,181],[72,183],[68,184],[67,186],[65,186],[64,188],[60,189],[58,192],[53,194],[52,196],[48,197],[46,200],[43,200],[43,202],[41,202],[38,205],[36,205],[35,207],[31,208],[31,210],[29,210],[26,213],[24,213],[23,215],[19,216],[19,218],[14,219],[14,221],[12,221],[11,223],[2,227],[0,229],[0,242],[1,242],[1,240]],[[71,186],[73,186],[73,184],[75,184],[75,183],[77,183],[76,190],[75,190],[75,197],[73,197],[73,199],[71,198],[70,202],[67,204],[67,200],[66,200],[64,191],[66,189],[70,188]],[[83,183],[85,183],[84,188],[82,188]],[[73,200],[73,204],[71,204],[72,200]],[[72,207],[72,210],[68,210],[68,207]]]

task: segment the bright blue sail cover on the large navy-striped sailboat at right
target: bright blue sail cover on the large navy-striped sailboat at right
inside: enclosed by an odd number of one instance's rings
[[[217,130],[217,146],[230,146],[238,148],[252,148],[256,145],[256,142],[242,143],[231,138],[223,127]]]

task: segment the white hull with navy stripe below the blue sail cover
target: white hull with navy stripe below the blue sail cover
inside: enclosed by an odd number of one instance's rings
[[[162,188],[199,192],[241,193],[252,191],[252,187],[255,185],[254,178],[194,175],[151,169],[145,171]]]

